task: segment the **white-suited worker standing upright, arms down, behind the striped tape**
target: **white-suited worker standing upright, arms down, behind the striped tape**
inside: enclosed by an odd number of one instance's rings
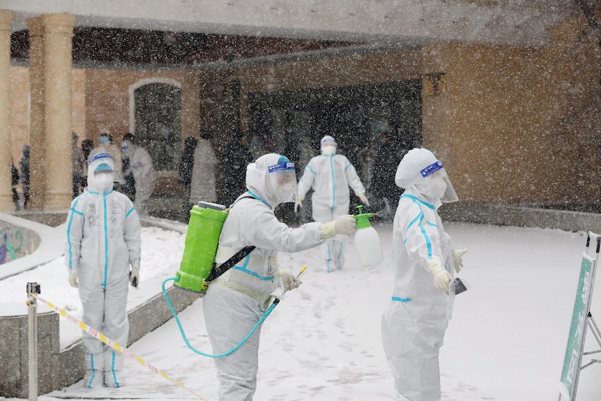
[[[113,190],[113,172],[109,153],[90,156],[88,190],[67,215],[65,262],[69,284],[79,287],[84,323],[126,347],[128,283],[139,282],[141,227],[130,199]],[[89,333],[82,342],[84,387],[123,386],[123,354]]]

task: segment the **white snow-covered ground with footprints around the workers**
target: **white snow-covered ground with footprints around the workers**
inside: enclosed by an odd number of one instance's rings
[[[284,268],[298,272],[307,265],[307,271],[303,285],[287,294],[264,323],[254,400],[394,400],[380,338],[392,289],[391,225],[375,227],[385,254],[379,266],[362,268],[354,262],[351,239],[342,271],[326,273],[317,249],[280,255]],[[469,248],[460,277],[471,288],[455,300],[441,349],[443,400],[557,400],[586,233],[469,223],[447,223],[446,230],[455,248]],[[129,308],[160,292],[183,252],[183,234],[144,228],[142,238],[142,288],[130,290]],[[0,281],[1,301],[23,302],[28,281],[39,282],[48,301],[82,315],[62,259]],[[211,353],[201,303],[179,317],[192,345]],[[601,287],[591,312],[601,316]],[[79,336],[77,328],[67,326],[61,321],[63,347]],[[598,348],[590,332],[586,344],[587,350]],[[130,351],[206,400],[217,400],[213,361],[186,347],[173,319]],[[125,369],[123,388],[87,391],[74,384],[38,399],[197,399],[130,359]],[[581,372],[578,401],[601,399],[600,375],[601,364]]]

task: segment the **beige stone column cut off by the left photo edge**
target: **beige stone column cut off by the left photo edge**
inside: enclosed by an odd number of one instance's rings
[[[12,211],[13,193],[10,185],[10,34],[13,32],[13,12],[0,10],[0,211]]]

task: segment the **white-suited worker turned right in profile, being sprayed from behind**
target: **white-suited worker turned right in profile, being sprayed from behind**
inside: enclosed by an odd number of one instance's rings
[[[427,149],[402,158],[404,188],[393,226],[395,285],[382,318],[382,342],[396,400],[441,400],[439,349],[448,325],[449,282],[467,251],[453,250],[437,209],[457,195],[440,160]]]

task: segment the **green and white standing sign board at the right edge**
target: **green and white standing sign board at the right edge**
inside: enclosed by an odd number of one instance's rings
[[[576,398],[588,312],[591,310],[595,264],[595,259],[587,255],[586,252],[582,255],[580,280],[578,281],[574,312],[572,312],[572,324],[570,325],[570,337],[568,338],[568,347],[565,349],[559,384],[559,394],[565,401],[573,401]]]

